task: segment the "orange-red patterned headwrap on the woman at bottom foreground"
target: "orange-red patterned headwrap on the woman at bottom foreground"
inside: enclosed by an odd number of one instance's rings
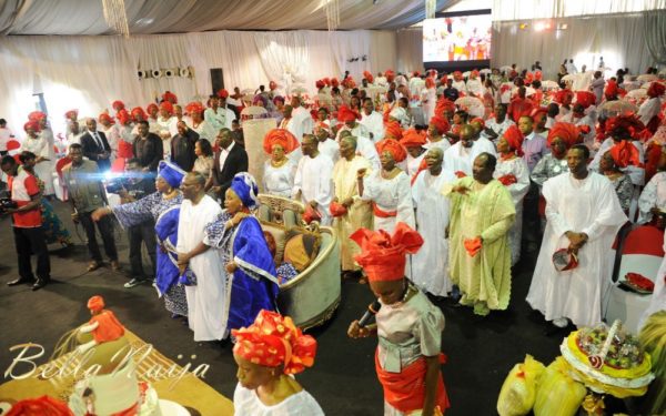
[[[233,354],[264,367],[284,366],[284,374],[312,367],[316,341],[294,325],[289,316],[262,310],[246,328],[232,329],[236,344]]]

